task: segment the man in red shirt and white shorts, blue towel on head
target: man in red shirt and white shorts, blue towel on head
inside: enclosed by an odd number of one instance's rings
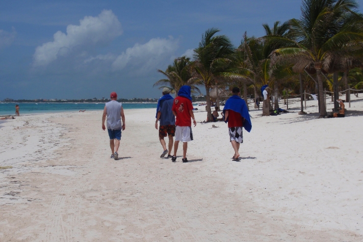
[[[172,162],[176,162],[176,151],[178,150],[179,141],[183,141],[183,163],[188,162],[187,149],[188,142],[193,140],[192,122],[194,127],[197,125],[193,114],[193,105],[191,97],[191,88],[183,86],[178,92],[178,96],[174,99],[172,111],[176,117],[175,121],[175,142],[174,155],[171,157]]]

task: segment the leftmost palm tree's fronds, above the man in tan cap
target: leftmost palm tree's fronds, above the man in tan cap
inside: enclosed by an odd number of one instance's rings
[[[192,88],[192,93],[200,93],[198,87],[194,85],[195,78],[190,73],[190,65],[190,58],[176,58],[173,65],[169,65],[166,71],[158,69],[158,72],[165,75],[166,78],[158,80],[152,87],[163,85],[159,89],[168,87],[171,93],[175,93],[176,96],[182,86],[189,85]]]

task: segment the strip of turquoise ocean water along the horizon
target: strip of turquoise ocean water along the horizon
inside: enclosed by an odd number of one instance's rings
[[[103,110],[105,103],[0,103],[0,116],[15,115],[15,104],[20,115]],[[122,103],[124,109],[156,109],[157,103]]]

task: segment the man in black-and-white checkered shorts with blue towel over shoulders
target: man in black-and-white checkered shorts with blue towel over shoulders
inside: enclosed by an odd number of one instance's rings
[[[229,140],[235,150],[232,157],[235,161],[240,157],[240,144],[243,143],[242,127],[248,132],[252,129],[246,102],[239,95],[240,89],[234,87],[232,96],[228,98],[223,109],[224,122],[228,123]]]

